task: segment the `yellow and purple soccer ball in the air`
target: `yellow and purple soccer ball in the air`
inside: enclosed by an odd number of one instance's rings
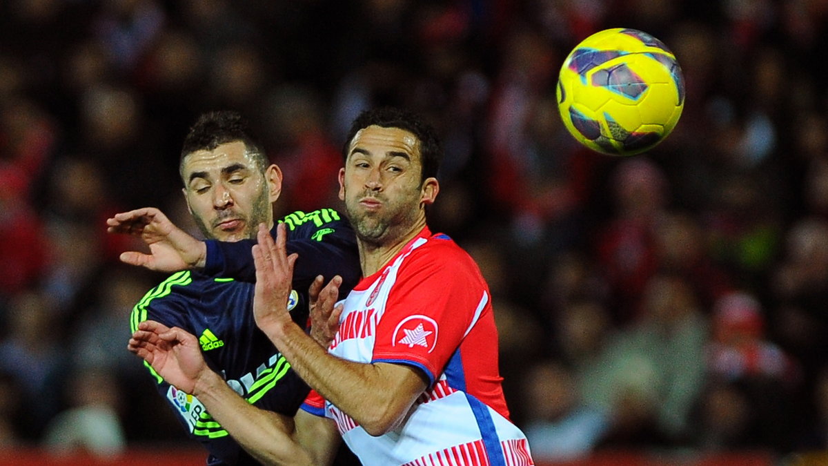
[[[609,155],[642,153],[675,128],[684,78],[662,41],[635,29],[596,32],[566,57],[556,90],[566,129]]]

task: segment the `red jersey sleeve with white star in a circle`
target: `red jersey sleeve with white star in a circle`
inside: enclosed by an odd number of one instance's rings
[[[397,274],[377,327],[373,362],[416,366],[433,384],[489,293],[470,259],[454,250],[425,252],[412,254]]]

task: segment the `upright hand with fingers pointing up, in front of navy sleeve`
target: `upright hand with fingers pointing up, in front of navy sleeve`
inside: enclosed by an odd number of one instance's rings
[[[267,226],[260,224],[258,244],[253,246],[253,263],[256,265],[253,318],[268,337],[283,325],[293,323],[287,311],[287,299],[291,294],[293,264],[298,255],[287,255],[286,237],[285,224],[277,226],[275,243]]]

